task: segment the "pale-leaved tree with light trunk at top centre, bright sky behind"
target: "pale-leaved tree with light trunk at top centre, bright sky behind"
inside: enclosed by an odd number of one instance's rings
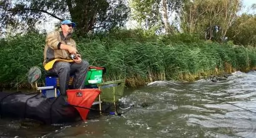
[[[174,12],[179,13],[184,1],[130,0],[132,19],[145,29],[165,30],[166,34],[173,34],[177,29],[172,25],[171,16]]]

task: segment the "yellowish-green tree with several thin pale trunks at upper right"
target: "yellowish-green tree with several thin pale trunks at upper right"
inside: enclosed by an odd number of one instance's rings
[[[182,15],[182,29],[184,32],[201,34],[205,39],[223,42],[240,6],[239,0],[188,1]],[[219,26],[217,34],[213,30],[216,26]]]

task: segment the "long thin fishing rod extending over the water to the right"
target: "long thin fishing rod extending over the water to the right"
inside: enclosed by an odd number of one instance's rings
[[[87,57],[93,58],[93,57],[91,57],[91,56],[89,56],[89,55],[87,55]],[[101,60],[101,59],[99,59],[99,60]],[[106,63],[110,63],[110,64],[112,64],[112,65],[116,65],[117,67],[127,68],[127,67],[122,67],[122,65],[117,65],[116,63],[107,62],[107,61],[105,61],[105,60],[101,60],[101,61],[102,61],[102,62],[106,62]],[[134,70],[134,69],[132,69],[132,68],[129,68],[129,67],[128,67],[127,69],[128,69],[128,70],[131,70],[131,71],[134,71],[134,72],[137,72],[137,73],[139,73],[139,74],[142,74],[142,75],[145,75],[145,76],[149,76],[149,77],[151,77],[151,78],[155,78],[155,79],[159,80],[159,78],[157,78],[157,77],[155,77],[155,76],[147,75],[146,73],[139,72],[139,71]],[[171,82],[166,81],[166,80],[160,80],[160,81],[164,81],[165,83],[168,83],[168,84],[170,84],[170,85],[175,85],[175,86],[178,86],[178,87],[180,87],[180,88],[184,88],[185,90],[190,90],[189,88],[185,88],[184,86],[176,85],[175,83],[171,83]],[[227,102],[227,101],[224,101],[224,100],[222,100],[222,99],[218,99],[218,98],[216,98],[215,96],[210,96],[209,94],[200,93],[199,91],[194,91],[194,90],[190,90],[190,91],[192,91],[192,92],[194,92],[194,93],[202,94],[202,95],[204,95],[204,96],[209,96],[210,98],[216,99],[217,101],[221,101],[221,102],[223,102],[223,103],[230,104],[230,105],[235,106],[235,107],[237,107],[237,108],[244,109],[245,111],[249,111],[250,113],[255,113],[255,114],[256,114],[256,112],[254,112],[254,111],[250,111],[249,109],[245,109],[245,108],[242,108],[242,107],[237,106],[237,105],[235,105],[235,104],[232,104],[232,103],[229,103],[229,102]]]

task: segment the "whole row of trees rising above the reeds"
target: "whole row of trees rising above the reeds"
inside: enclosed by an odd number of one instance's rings
[[[255,15],[238,16],[241,1],[2,0],[0,35],[11,30],[15,33],[16,30],[34,31],[36,24],[47,22],[49,16],[59,20],[72,19],[77,23],[78,35],[114,32],[116,28],[126,25],[131,15],[146,35],[184,32],[200,35],[206,40],[224,42],[228,39],[235,44],[255,45]],[[256,9],[255,4],[251,9]]]

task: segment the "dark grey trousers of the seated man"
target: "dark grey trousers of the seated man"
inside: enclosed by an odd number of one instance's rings
[[[66,90],[69,85],[69,76],[74,74],[73,89],[83,89],[86,81],[86,74],[89,68],[89,63],[82,60],[81,63],[56,62],[54,63],[51,73],[56,73],[59,77],[59,90],[62,95],[66,95]]]

